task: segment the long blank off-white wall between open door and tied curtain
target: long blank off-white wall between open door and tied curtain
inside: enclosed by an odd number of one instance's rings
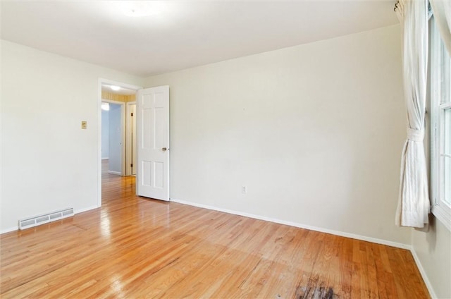
[[[395,25],[147,78],[171,87],[171,198],[410,244],[400,53]]]

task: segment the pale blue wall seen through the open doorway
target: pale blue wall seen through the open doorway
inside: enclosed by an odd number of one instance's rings
[[[121,106],[110,103],[109,111],[109,171],[122,173]]]

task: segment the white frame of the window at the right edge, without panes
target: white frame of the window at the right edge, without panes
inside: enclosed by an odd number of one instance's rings
[[[451,231],[451,205],[445,202],[444,190],[446,182],[443,178],[443,171],[445,167],[444,147],[445,147],[445,110],[451,109],[451,102],[442,104],[440,99],[442,97],[440,90],[440,80],[442,79],[442,66],[439,65],[440,55],[442,51],[446,51],[440,45],[440,34],[436,28],[435,20],[430,13],[429,19],[429,50],[430,50],[430,73],[428,81],[431,86],[430,101],[431,101],[431,211],[433,215],[442,222],[449,231]],[[439,51],[435,51],[439,49]],[[450,66],[447,66],[450,68]],[[450,71],[449,69],[447,71]],[[450,78],[448,78],[451,81]],[[451,84],[451,82],[450,82]],[[451,95],[451,92],[450,92]]]

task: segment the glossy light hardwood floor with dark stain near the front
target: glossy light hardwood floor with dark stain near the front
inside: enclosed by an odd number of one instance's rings
[[[1,298],[429,298],[408,250],[135,196],[1,235]]]

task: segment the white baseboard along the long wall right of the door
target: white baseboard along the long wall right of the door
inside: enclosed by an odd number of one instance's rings
[[[397,242],[393,242],[393,241],[389,241],[389,240],[383,240],[383,239],[378,239],[378,238],[371,238],[371,237],[366,237],[366,236],[360,236],[360,235],[357,235],[357,234],[354,234],[354,233],[345,233],[343,231],[334,231],[334,230],[331,230],[331,229],[328,229],[328,228],[320,228],[320,227],[316,227],[316,226],[309,226],[307,224],[300,224],[300,223],[292,222],[292,221],[285,221],[285,220],[270,218],[270,217],[266,217],[266,216],[259,216],[259,215],[255,215],[255,214],[249,214],[249,213],[245,213],[245,212],[238,212],[238,211],[235,211],[235,210],[232,210],[232,209],[223,209],[223,208],[220,208],[220,207],[213,207],[213,206],[209,206],[209,205],[202,205],[202,204],[198,204],[196,202],[187,202],[185,200],[177,200],[175,198],[171,198],[170,200],[171,200],[171,202],[178,202],[179,204],[183,204],[183,205],[190,205],[190,206],[193,206],[193,207],[201,207],[201,208],[204,208],[204,209],[212,209],[212,210],[218,211],[218,212],[225,212],[225,213],[228,213],[228,214],[234,214],[234,215],[245,216],[245,217],[249,217],[249,218],[254,218],[254,219],[274,222],[276,224],[285,224],[285,225],[288,225],[288,226],[294,226],[294,227],[298,227],[298,228],[305,228],[305,229],[309,229],[310,231],[319,231],[321,233],[330,233],[330,234],[335,235],[335,236],[341,236],[341,237],[346,237],[346,238],[353,238],[353,239],[363,240],[363,241],[367,241],[367,242],[371,242],[371,243],[388,245],[388,246],[392,246],[392,247],[396,247],[396,248],[412,250],[412,246],[411,245],[397,243]]]

